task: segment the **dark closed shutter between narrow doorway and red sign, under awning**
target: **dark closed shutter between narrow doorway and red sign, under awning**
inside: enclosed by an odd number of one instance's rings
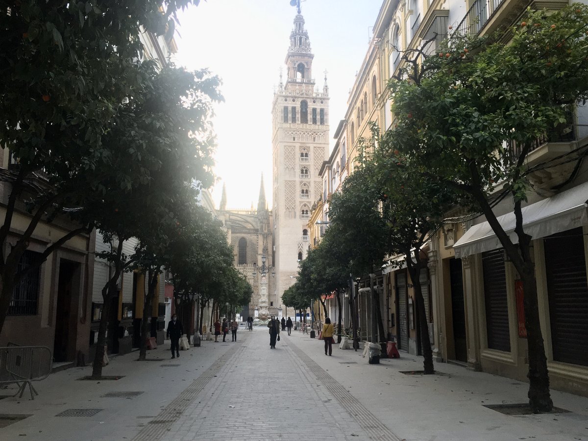
[[[510,352],[506,269],[502,248],[482,253],[488,348]]]

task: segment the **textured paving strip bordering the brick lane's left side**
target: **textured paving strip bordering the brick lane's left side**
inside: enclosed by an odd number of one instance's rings
[[[234,346],[227,350],[216,360],[212,366],[206,369],[191,385],[165,407],[159,415],[149,422],[132,441],[153,441],[161,439],[172,424],[182,415],[183,411],[196,399],[196,396],[208,385],[208,383],[220,372],[226,362],[233,355],[239,356],[245,346]]]

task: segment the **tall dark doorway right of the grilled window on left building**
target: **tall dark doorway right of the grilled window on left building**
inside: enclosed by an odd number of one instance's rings
[[[61,259],[57,286],[57,308],[55,314],[55,338],[53,358],[55,362],[75,359],[76,306],[79,286],[75,286],[79,263]]]

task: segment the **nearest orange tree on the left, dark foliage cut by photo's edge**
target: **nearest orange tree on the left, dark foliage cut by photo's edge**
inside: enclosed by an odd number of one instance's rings
[[[86,171],[102,167],[114,181],[125,176],[128,164],[108,163],[102,137],[126,100],[151,85],[149,63],[141,62],[142,32],[170,38],[171,18],[190,3],[198,0],[2,2],[0,146],[9,149],[11,166],[0,169],[6,189],[0,332],[24,275],[19,261],[39,223],[69,220],[71,208],[98,184],[83,179]],[[28,224],[17,235],[15,215],[25,210]],[[34,265],[92,226],[82,223],[67,231]]]

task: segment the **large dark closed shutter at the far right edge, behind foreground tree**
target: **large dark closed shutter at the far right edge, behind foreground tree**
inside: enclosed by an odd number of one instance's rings
[[[544,239],[553,359],[588,366],[588,286],[582,228]]]

